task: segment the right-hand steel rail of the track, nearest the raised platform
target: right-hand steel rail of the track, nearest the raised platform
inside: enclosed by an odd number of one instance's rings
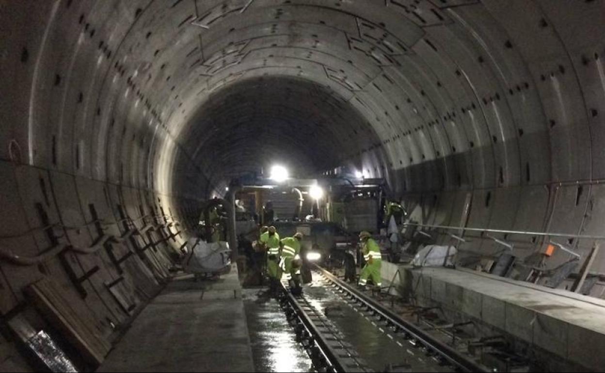
[[[414,339],[420,345],[438,354],[440,358],[442,358],[443,362],[446,362],[456,367],[459,371],[462,372],[490,372],[490,370],[485,366],[474,362],[473,360],[471,360],[471,358],[463,356],[455,349],[436,339],[436,337],[431,336],[424,330],[420,329],[418,326],[408,322],[407,320],[402,319],[396,313],[393,313],[393,311],[388,310],[388,308],[385,308],[376,300],[371,299],[366,294],[363,294],[361,291],[350,287],[348,284],[345,284],[340,279],[338,279],[338,277],[330,273],[330,271],[319,267],[319,265],[317,264],[312,265],[316,268],[316,270],[318,270],[321,274],[327,277],[327,279],[332,281],[333,284],[346,291],[348,294],[350,294],[350,296],[355,297],[355,299],[357,299],[359,302],[364,303],[367,307],[374,310],[376,313],[379,314],[380,317],[387,320],[392,325],[396,326],[399,329],[402,329],[402,331],[406,333],[405,336],[408,337],[408,339]]]

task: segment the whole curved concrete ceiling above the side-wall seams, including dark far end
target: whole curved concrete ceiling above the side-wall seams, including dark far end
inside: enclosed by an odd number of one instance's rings
[[[428,224],[577,250],[602,232],[603,2],[19,1],[2,19],[0,157],[126,205],[186,216],[276,157],[384,177]]]

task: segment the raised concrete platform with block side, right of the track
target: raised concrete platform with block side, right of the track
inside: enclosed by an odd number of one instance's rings
[[[604,300],[466,269],[384,263],[382,278],[420,305],[466,314],[574,364],[605,369]]]

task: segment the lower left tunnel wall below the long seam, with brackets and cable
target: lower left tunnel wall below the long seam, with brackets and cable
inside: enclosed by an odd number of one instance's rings
[[[198,201],[188,201],[187,211],[173,212],[181,201],[152,190],[13,161],[0,161],[0,169],[2,208],[10,212],[2,218],[0,233],[2,337],[27,339],[25,331],[33,328],[73,351],[70,334],[26,295],[32,284],[50,279],[62,304],[89,320],[97,337],[113,342],[168,281],[189,226],[176,213],[197,217]],[[18,348],[2,343],[0,366],[16,369],[19,365],[10,364],[19,361]],[[94,368],[96,362],[77,351],[70,355],[73,362]]]

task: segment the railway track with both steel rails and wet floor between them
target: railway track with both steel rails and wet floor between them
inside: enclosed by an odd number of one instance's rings
[[[487,372],[485,366],[315,266],[295,297],[280,302],[318,372]]]

